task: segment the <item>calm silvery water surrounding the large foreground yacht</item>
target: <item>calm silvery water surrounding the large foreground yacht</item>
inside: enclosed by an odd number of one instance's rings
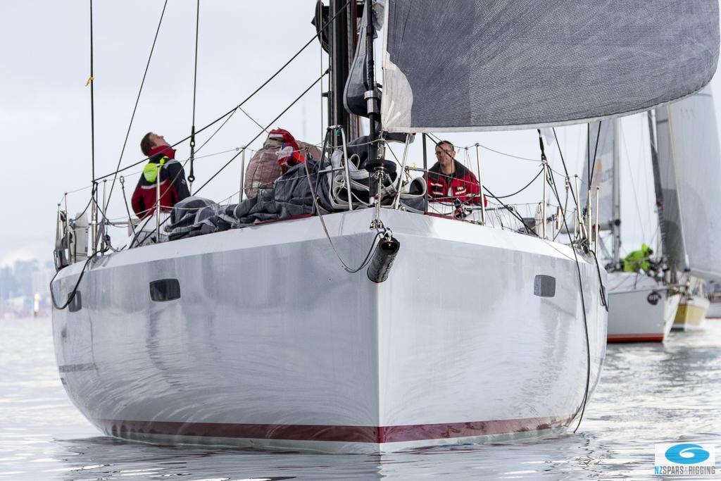
[[[0,320],[0,480],[658,480],[653,445],[678,440],[721,445],[721,321],[672,334],[665,345],[609,346],[576,434],[363,456],[151,446],[100,436],[63,391],[50,320]]]

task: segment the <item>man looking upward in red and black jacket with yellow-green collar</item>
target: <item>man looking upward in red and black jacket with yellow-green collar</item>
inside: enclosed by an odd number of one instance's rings
[[[140,149],[149,159],[133,193],[133,211],[143,219],[155,212],[158,175],[160,175],[160,206],[169,211],[172,206],[190,195],[185,172],[175,160],[175,151],[163,136],[149,132],[140,142]],[[160,166],[160,168],[158,168]]]

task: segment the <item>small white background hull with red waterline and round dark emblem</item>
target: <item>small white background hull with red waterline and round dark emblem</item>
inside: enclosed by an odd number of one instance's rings
[[[609,343],[663,342],[680,294],[635,273],[609,273]]]

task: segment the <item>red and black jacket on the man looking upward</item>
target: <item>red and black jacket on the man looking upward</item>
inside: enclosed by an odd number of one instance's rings
[[[162,164],[160,169],[160,206],[169,211],[172,206],[190,195],[185,182],[185,172],[180,162],[175,160],[175,151],[168,146],[151,149],[149,164]],[[147,167],[147,166],[146,166]],[[141,174],[133,193],[133,211],[140,219],[155,212],[156,182],[150,182]]]

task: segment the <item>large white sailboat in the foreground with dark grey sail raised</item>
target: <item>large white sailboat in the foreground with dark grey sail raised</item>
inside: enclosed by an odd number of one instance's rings
[[[711,2],[663,12],[526,3],[536,8],[507,1],[488,15],[479,0],[440,11],[389,0],[383,131],[585,122],[689,94],[715,71]],[[621,15],[623,28],[619,12],[633,14]],[[666,15],[674,25],[685,16],[684,29],[660,32],[646,55],[650,32],[671,25]],[[529,26],[559,18],[575,27],[531,35]],[[618,45],[580,41],[611,32]],[[373,145],[372,41],[365,52]],[[533,69],[541,58],[548,65]],[[516,81],[499,80],[501,71]],[[379,151],[369,159],[382,179],[389,164]],[[565,431],[605,355],[603,268],[544,236],[377,198],[374,207],[93,251],[63,268],[53,296],[69,305],[54,309],[53,335],[71,400],[104,433],[154,442],[382,452]],[[383,276],[340,268],[341,258],[363,265],[379,234],[372,262]]]

